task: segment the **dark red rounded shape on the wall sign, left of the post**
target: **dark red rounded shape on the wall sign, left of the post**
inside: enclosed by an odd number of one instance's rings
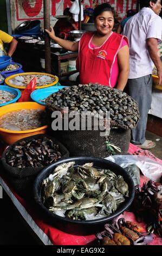
[[[36,0],[34,7],[31,7],[29,0],[23,0],[22,7],[25,14],[27,14],[29,17],[37,16],[42,9],[42,2],[43,0]]]

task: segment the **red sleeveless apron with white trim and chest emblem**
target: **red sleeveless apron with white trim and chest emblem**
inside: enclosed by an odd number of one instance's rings
[[[76,69],[80,71],[80,83],[100,83],[111,86],[112,67],[125,36],[112,33],[100,47],[91,48],[94,33],[82,35],[79,42],[79,56],[76,59]],[[128,42],[128,41],[127,41]]]

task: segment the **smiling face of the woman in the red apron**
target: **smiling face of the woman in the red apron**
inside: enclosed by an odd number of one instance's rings
[[[101,35],[108,35],[112,32],[114,26],[114,16],[111,11],[103,11],[96,16],[94,21],[97,32]]]

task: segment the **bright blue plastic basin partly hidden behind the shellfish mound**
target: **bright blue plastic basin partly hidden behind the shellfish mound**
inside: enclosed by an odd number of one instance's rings
[[[33,101],[37,102],[41,105],[46,105],[45,102],[41,102],[40,100],[46,99],[50,94],[58,92],[58,90],[69,87],[69,86],[51,86],[43,89],[34,90],[33,93],[30,94],[30,97]]]

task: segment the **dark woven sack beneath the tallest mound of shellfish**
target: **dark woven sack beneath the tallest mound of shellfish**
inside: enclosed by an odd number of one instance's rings
[[[51,122],[55,119],[51,118],[51,112],[47,109],[49,127],[51,127]],[[68,119],[68,124],[72,119]],[[81,127],[81,116],[80,119]],[[87,120],[87,119],[86,119]],[[62,118],[62,127],[64,127],[64,118]],[[69,127],[69,126],[68,126]],[[119,147],[121,152],[114,150],[114,154],[126,154],[129,148],[129,143],[131,140],[131,130],[125,130],[122,128],[110,129],[110,133],[107,136],[100,136],[99,124],[92,119],[92,129],[88,130],[87,123],[85,130],[57,130],[50,132],[51,135],[57,135],[59,141],[62,142],[65,147],[69,150],[70,156],[94,156],[94,157],[107,157],[110,152],[107,150],[106,141]],[[95,127],[95,129],[94,129]],[[105,132],[105,131],[102,131]]]

